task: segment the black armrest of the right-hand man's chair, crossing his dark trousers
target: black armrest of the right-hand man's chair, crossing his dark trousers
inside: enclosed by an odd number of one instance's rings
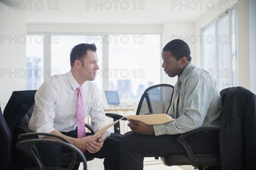
[[[195,130],[192,130],[192,131],[190,131],[190,132],[187,132],[187,133],[184,133],[184,134],[180,135],[180,136],[176,139],[176,141],[179,142],[180,144],[182,144],[182,146],[185,148],[188,158],[189,158],[191,161],[193,161],[193,162],[197,162],[197,161],[198,161],[198,158],[194,156],[194,153],[193,153],[191,147],[190,147],[189,144],[185,141],[185,137],[186,137],[186,136],[189,136],[189,135],[191,135],[191,134],[197,133],[197,132],[201,132],[201,131],[219,130],[219,129],[220,129],[219,127],[202,127],[202,128],[195,129]],[[202,159],[202,158],[201,158],[201,159]]]

